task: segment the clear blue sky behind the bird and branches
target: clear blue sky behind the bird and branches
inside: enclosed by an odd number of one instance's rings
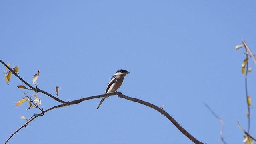
[[[215,1],[1,1],[0,59],[18,66],[24,80],[40,70],[38,87],[71,101],[104,94],[119,69],[131,72],[123,94],[161,106],[201,142],[222,144],[221,125],[204,106],[223,118],[225,140],[242,144],[247,128],[244,50],[256,53],[256,2]],[[249,62],[248,90],[256,104],[255,65]],[[4,66],[0,66],[2,72]],[[15,107],[23,83],[0,80],[0,143],[38,113]],[[34,94],[31,91],[28,95]],[[60,104],[40,93],[44,110]],[[191,144],[159,112],[117,96],[59,108],[20,130],[10,144]],[[251,110],[256,136],[256,112]]]

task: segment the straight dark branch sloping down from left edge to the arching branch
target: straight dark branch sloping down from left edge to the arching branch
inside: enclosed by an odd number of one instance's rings
[[[43,90],[40,90],[39,88],[34,88],[33,86],[31,86],[30,84],[28,84],[25,80],[23,80],[16,72],[14,72],[9,66],[7,66],[7,64],[5,64],[2,60],[0,60],[0,62],[6,66],[6,68],[8,68],[12,74],[14,74],[18,79],[20,79],[24,84],[26,84],[27,86],[29,86],[32,90],[34,90],[35,92],[42,92],[43,94],[46,94],[47,96],[50,96],[51,98],[53,98],[54,100],[61,102],[62,104],[66,103],[63,100],[60,100],[58,98],[56,98],[55,96],[49,94],[48,92],[45,92]]]

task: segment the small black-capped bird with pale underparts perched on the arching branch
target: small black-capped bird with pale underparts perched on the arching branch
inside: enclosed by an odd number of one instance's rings
[[[124,76],[126,76],[126,74],[130,74],[130,72],[128,72],[127,70],[118,70],[114,74],[114,76],[112,76],[110,81],[108,82],[108,86],[106,88],[105,94],[110,93],[110,92],[116,92],[118,90],[118,88],[120,88],[120,86],[122,85],[122,83],[124,81]],[[102,98],[102,100],[100,101],[100,103],[97,106],[97,109],[100,107],[100,105],[106,98],[107,97]]]

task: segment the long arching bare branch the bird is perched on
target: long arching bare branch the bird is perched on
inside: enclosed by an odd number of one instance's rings
[[[113,96],[113,95],[118,95],[121,98],[124,98],[126,100],[131,100],[133,102],[138,102],[140,104],[143,104],[145,106],[148,106],[150,108],[153,108],[155,110],[157,110],[158,112],[160,112],[161,114],[163,114],[164,116],[166,116],[166,118],[168,118],[173,124],[174,126],[176,126],[178,128],[178,130],[180,130],[180,132],[182,132],[186,137],[188,137],[192,142],[196,143],[196,144],[203,144],[202,142],[198,141],[196,138],[194,138],[191,134],[189,134],[184,128],[182,128],[182,126],[180,126],[180,124],[178,124],[178,122],[176,120],[174,120],[174,118],[172,118],[172,116],[170,116],[170,114],[168,114],[166,111],[164,111],[163,109],[155,106],[154,104],[150,104],[149,102],[145,102],[143,100],[139,100],[137,98],[131,98],[128,96],[125,96],[123,94],[121,94],[120,92],[112,92],[112,93],[108,93],[108,94],[102,94],[102,95],[97,95],[97,96],[90,96],[90,97],[86,97],[86,98],[80,98],[78,100],[73,100],[71,102],[67,102],[65,104],[60,104],[58,106],[54,106],[52,108],[49,108],[48,110],[45,110],[43,112],[41,112],[40,114],[34,116],[34,118],[31,118],[30,120],[28,120],[25,124],[23,124],[20,128],[18,128],[18,130],[16,130],[5,142],[5,144],[10,140],[10,138],[12,138],[12,136],[14,136],[19,130],[21,130],[23,127],[25,127],[26,125],[28,125],[30,122],[32,122],[32,120],[34,120],[35,118],[37,118],[38,116],[43,116],[44,113],[53,110],[55,108],[61,108],[64,106],[70,106],[73,104],[79,104],[82,101],[85,100],[92,100],[94,98],[102,98],[102,97],[108,97],[108,96]]]

